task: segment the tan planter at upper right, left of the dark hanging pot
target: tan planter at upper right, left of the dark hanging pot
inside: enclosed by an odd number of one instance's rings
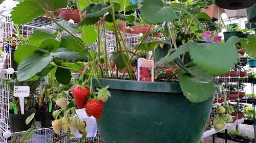
[[[212,21],[219,20],[221,18],[222,9],[217,5],[213,4],[208,6],[207,8],[202,8],[201,12],[207,13],[212,19]]]

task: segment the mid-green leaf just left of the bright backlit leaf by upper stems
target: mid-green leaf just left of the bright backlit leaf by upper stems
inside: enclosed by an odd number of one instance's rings
[[[79,37],[77,37],[77,38],[82,42],[82,40]],[[70,49],[75,52],[80,52],[84,48],[71,35],[62,35],[59,46]]]

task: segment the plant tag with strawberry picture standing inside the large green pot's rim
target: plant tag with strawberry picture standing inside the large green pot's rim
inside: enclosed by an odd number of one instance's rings
[[[154,81],[154,61],[138,59],[138,81]]]

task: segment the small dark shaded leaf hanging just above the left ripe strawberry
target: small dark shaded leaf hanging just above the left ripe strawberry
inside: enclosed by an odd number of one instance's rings
[[[71,76],[70,70],[57,68],[57,70],[55,72],[55,77],[59,83],[66,85],[66,84],[70,83],[72,76]]]

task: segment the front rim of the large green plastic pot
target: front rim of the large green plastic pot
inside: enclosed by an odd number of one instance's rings
[[[171,82],[147,82],[121,79],[98,78],[102,87],[109,85],[110,89],[143,91],[143,92],[160,92],[160,93],[182,93],[179,83]],[[98,82],[94,79],[93,85],[99,87]]]

